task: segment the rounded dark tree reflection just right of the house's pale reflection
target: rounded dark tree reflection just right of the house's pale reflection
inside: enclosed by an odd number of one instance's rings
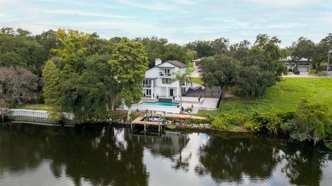
[[[268,177],[279,161],[276,149],[268,138],[247,134],[222,133],[211,136],[201,147],[200,162],[196,173],[211,174],[217,182],[240,183],[243,174],[251,178]]]

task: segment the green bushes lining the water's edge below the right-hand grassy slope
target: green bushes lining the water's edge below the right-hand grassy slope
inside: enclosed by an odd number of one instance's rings
[[[306,99],[295,111],[222,113],[211,120],[210,129],[288,136],[293,141],[324,144],[332,149],[332,112],[328,106]]]

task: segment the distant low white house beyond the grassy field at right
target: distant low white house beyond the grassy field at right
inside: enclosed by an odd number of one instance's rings
[[[293,69],[298,69],[300,72],[308,72],[312,68],[311,60],[306,58],[299,59],[299,65],[297,66],[297,59],[292,56],[286,57],[286,59],[282,59],[284,61],[285,66],[287,66],[287,71],[291,72]]]

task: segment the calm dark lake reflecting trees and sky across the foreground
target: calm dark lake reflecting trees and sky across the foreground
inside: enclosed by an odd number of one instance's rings
[[[331,159],[250,133],[0,124],[0,185],[331,185]]]

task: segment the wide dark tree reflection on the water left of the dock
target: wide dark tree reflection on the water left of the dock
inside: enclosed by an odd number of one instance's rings
[[[104,135],[101,129],[61,130],[1,126],[0,147],[6,151],[0,151],[0,171],[33,170],[50,160],[53,175],[64,172],[75,185],[81,185],[82,178],[93,185],[147,185],[143,146],[125,129],[109,128]]]

